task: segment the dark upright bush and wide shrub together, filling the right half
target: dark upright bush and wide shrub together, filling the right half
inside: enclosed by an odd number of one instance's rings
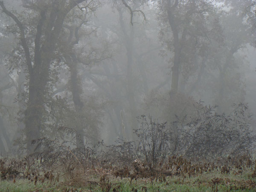
[[[137,141],[118,140],[116,145],[109,146],[112,157],[120,164],[140,159],[151,168],[173,155],[192,161],[215,161],[250,154],[256,135],[250,126],[247,105],[234,104],[228,115],[217,113],[217,106],[199,104],[197,108],[196,116],[177,117],[177,121],[169,124],[159,123],[150,115],[138,117],[140,127],[134,130]],[[173,135],[176,130],[177,138]]]

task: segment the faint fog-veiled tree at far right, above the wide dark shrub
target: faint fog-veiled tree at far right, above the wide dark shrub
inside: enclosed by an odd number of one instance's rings
[[[211,17],[215,18],[212,23],[215,32],[212,32],[215,35],[208,35],[210,44],[204,46],[204,54],[199,55],[204,63],[197,71],[198,78],[190,79],[193,83],[187,84],[189,89],[186,92],[195,98],[201,94],[198,99],[218,105],[218,112],[223,113],[229,111],[234,102],[244,102],[245,77],[242,71],[247,66],[241,51],[244,52],[249,44],[253,45],[253,24],[245,12],[251,0],[219,2],[229,9],[217,7],[212,13]]]

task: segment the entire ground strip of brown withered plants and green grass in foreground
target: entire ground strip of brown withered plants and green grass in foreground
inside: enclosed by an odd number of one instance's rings
[[[0,159],[0,192],[256,191],[256,161],[247,156],[227,158],[218,166],[172,157],[154,169],[140,160],[126,167],[93,160],[90,166],[71,157],[50,163],[34,157]]]

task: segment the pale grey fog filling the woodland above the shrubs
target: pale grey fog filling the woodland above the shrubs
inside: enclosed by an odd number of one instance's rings
[[[252,148],[255,10],[254,0],[0,1],[1,154],[42,140],[137,141],[143,118],[166,122],[176,153],[192,119],[237,108]]]

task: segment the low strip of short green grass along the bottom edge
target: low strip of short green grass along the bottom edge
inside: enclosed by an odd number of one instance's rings
[[[36,185],[24,179],[16,180],[0,180],[0,192],[61,192],[61,191],[92,191],[101,192],[106,191],[110,188],[110,191],[116,189],[119,192],[131,192],[132,189],[137,189],[138,192],[212,192],[216,189],[216,185],[212,183],[212,179],[219,178],[221,180],[218,183],[218,191],[245,191],[255,192],[256,186],[254,182],[256,179],[251,178],[250,174],[245,173],[243,175],[233,174],[221,174],[221,173],[204,173],[194,177],[186,177],[183,179],[182,176],[166,177],[166,181],[160,182],[147,179],[132,180],[130,183],[129,178],[115,178],[108,175],[108,180],[100,182],[100,176],[93,177],[78,177],[76,180],[64,180],[61,182],[51,183],[45,181],[44,183],[36,183]],[[90,180],[91,178],[93,180]],[[87,180],[87,181],[85,181]],[[152,184],[153,183],[153,184]],[[134,190],[135,191],[135,190]]]

